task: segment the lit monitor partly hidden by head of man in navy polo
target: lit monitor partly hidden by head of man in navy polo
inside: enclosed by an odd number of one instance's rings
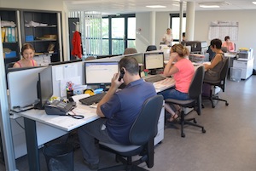
[[[119,71],[118,61],[90,61],[84,63],[85,84],[111,84],[114,73]]]

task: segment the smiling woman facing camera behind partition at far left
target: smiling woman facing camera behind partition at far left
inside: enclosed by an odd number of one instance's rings
[[[32,46],[31,43],[23,44],[21,48],[21,55],[22,58],[15,62],[14,68],[21,68],[21,67],[32,67],[38,66],[37,62],[33,60],[35,54],[35,48]]]

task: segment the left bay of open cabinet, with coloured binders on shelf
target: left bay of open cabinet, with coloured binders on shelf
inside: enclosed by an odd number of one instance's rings
[[[20,60],[19,14],[15,9],[0,9],[5,65]]]

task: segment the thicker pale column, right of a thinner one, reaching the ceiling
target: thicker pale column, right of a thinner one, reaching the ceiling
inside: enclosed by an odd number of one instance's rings
[[[195,31],[195,2],[187,2],[186,40],[194,40]]]

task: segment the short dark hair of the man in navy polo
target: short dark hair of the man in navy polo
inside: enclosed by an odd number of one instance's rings
[[[119,70],[124,67],[126,71],[129,71],[132,75],[139,73],[139,66],[137,60],[134,57],[124,57],[119,61]]]

